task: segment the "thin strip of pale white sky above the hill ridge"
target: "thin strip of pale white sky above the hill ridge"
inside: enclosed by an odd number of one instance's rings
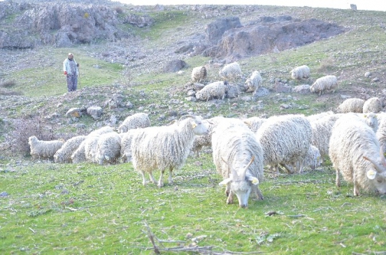
[[[113,0],[134,5],[175,5],[175,4],[258,4],[269,6],[309,6],[320,8],[350,9],[350,3],[357,5],[357,10],[386,11],[385,0]]]

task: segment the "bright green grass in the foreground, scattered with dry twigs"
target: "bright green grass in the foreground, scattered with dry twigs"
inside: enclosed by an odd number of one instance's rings
[[[189,158],[175,184],[162,189],[143,187],[131,163],[10,164],[0,173],[1,191],[9,194],[0,203],[0,253],[153,254],[149,229],[170,241],[157,242],[165,249],[194,243],[269,254],[386,249],[385,196],[355,198],[345,182],[337,189],[330,168],[265,173],[264,201],[250,198],[242,209],[226,204],[210,156],[200,159],[201,167],[195,161]]]

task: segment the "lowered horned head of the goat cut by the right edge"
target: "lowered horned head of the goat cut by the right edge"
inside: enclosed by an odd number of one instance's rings
[[[380,147],[381,165],[367,156],[363,156],[363,158],[370,161],[373,165],[373,168],[370,168],[366,172],[366,176],[369,178],[370,183],[376,189],[376,192],[386,194],[386,160],[385,156],[383,156],[383,148]]]

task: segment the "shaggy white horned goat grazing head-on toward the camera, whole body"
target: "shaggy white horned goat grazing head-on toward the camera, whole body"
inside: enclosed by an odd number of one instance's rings
[[[262,145],[255,133],[241,120],[221,122],[213,129],[213,163],[226,186],[227,203],[233,203],[233,195],[240,207],[248,207],[250,192],[263,200],[258,184],[264,179]]]

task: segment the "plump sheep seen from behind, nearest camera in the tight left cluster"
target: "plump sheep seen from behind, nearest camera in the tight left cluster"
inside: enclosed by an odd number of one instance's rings
[[[96,146],[95,159],[99,165],[104,161],[117,162],[120,157],[121,136],[115,132],[103,133],[99,136]]]

